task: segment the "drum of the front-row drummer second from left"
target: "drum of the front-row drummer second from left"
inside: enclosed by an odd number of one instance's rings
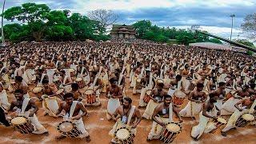
[[[75,124],[70,121],[60,122],[57,126],[57,130],[62,135],[70,138],[77,138],[81,134]]]

